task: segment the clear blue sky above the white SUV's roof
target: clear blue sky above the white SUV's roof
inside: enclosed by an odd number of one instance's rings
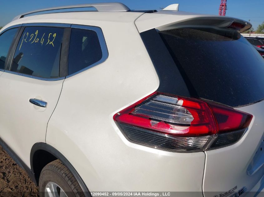
[[[0,26],[6,25],[15,16],[46,7],[83,4],[95,2],[122,2],[130,9],[156,9],[166,7],[173,3],[180,4],[181,11],[196,12],[204,14],[218,15],[219,4],[221,0],[2,0]],[[233,16],[243,20],[251,20],[254,29],[264,21],[264,1],[263,0],[227,0],[226,16]]]

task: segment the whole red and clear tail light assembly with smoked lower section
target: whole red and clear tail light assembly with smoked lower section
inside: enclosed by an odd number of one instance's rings
[[[252,115],[213,102],[156,92],[113,118],[134,143],[197,152],[236,143]]]

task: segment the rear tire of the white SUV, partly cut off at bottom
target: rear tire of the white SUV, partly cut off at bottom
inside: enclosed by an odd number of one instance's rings
[[[47,186],[47,187],[46,187]],[[47,190],[45,190],[47,188]],[[54,188],[54,189],[52,189]],[[47,164],[41,171],[39,177],[39,196],[47,197],[48,191],[53,193],[64,191],[67,197],[84,197],[82,189],[72,173],[65,167],[62,162],[55,160]],[[53,193],[53,196],[54,193]]]

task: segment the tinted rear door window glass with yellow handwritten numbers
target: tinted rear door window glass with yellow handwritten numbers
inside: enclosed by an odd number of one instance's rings
[[[26,27],[11,70],[37,77],[59,77],[63,31],[57,27]]]

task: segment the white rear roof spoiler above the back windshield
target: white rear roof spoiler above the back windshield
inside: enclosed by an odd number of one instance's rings
[[[162,10],[152,14],[143,14],[136,21],[139,32],[156,28],[169,30],[184,27],[215,27],[233,29],[240,33],[252,27],[251,23],[228,16],[202,15],[181,11]]]

